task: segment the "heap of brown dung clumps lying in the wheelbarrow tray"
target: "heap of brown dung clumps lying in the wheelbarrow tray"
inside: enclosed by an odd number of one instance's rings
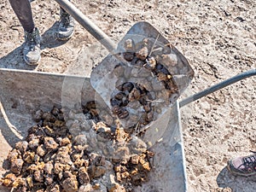
[[[90,113],[90,120],[93,120],[89,137],[71,134],[60,108],[54,107],[50,112],[38,110],[38,124],[33,125],[26,139],[16,143],[9,152],[9,172],[0,178],[0,183],[13,192],[125,192],[148,181],[152,158],[147,154],[148,150],[129,154],[129,148],[125,150],[125,147],[117,146],[113,153],[116,157],[125,154],[125,158],[113,158],[94,151],[90,148],[91,136],[101,136],[99,141],[103,143],[122,144],[131,138],[123,129],[118,127],[113,131],[101,122],[95,102],[87,103],[84,115],[88,116],[86,113]]]

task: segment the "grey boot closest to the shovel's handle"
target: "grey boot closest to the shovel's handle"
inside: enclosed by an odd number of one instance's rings
[[[56,36],[60,40],[67,40],[73,36],[74,32],[74,19],[67,13],[65,9],[60,7],[60,21],[56,32]]]

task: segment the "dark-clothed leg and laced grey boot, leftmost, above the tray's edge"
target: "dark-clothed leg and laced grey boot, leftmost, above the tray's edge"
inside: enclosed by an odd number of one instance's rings
[[[28,0],[9,0],[20,24],[25,31],[23,58],[29,65],[35,65],[41,58],[40,34],[32,18],[32,9]]]

